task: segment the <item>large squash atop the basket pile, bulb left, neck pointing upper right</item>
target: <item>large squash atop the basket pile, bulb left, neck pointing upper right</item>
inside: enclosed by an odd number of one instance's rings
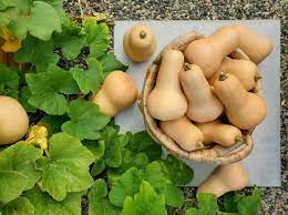
[[[188,63],[199,65],[206,78],[218,71],[223,59],[232,53],[239,43],[237,31],[232,27],[222,27],[205,39],[195,40],[184,51]]]

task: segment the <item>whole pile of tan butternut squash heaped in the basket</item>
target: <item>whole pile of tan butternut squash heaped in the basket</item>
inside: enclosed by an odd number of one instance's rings
[[[243,50],[250,60],[233,59]],[[163,53],[147,110],[162,131],[187,152],[243,141],[243,131],[266,116],[264,99],[254,93],[260,72],[257,64],[271,42],[243,25],[227,25],[191,42],[182,52]]]

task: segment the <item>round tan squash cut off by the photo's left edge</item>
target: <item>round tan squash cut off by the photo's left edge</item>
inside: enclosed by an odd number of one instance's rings
[[[29,127],[23,106],[14,99],[0,95],[0,145],[20,141]]]

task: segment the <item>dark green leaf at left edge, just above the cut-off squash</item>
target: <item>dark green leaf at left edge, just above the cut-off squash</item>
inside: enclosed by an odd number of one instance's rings
[[[18,90],[20,76],[16,69],[0,63],[0,89]]]

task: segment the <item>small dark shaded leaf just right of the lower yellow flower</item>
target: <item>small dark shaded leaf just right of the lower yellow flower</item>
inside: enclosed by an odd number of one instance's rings
[[[48,127],[49,136],[61,132],[61,125],[69,121],[68,115],[47,115],[41,119],[40,123],[43,123]]]

